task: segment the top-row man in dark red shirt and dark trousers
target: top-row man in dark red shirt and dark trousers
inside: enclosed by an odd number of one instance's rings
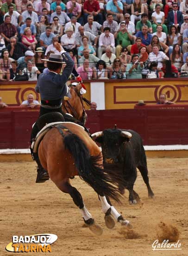
[[[84,13],[85,23],[87,23],[88,15],[92,15],[94,17],[94,21],[99,21],[100,25],[103,24],[103,16],[102,16],[102,13],[100,13],[100,5],[97,0],[84,1],[83,13]]]

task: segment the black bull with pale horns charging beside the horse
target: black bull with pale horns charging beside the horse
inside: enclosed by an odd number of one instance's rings
[[[92,135],[94,141],[100,143],[103,155],[103,164],[106,168],[113,170],[111,175],[116,173],[122,177],[119,182],[119,190],[123,194],[124,189],[129,190],[129,203],[137,203],[139,195],[133,190],[134,182],[137,178],[137,168],[148,189],[148,196],[154,194],[150,188],[148,178],[148,168],[145,150],[142,139],[133,130],[125,129],[105,129]]]

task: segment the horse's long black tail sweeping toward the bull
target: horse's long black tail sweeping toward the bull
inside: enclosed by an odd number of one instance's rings
[[[108,195],[119,202],[119,190],[116,187],[118,183],[113,181],[102,165],[99,164],[102,154],[90,156],[84,142],[75,134],[66,135],[64,137],[64,145],[73,155],[75,167],[81,179],[87,182],[99,195]]]

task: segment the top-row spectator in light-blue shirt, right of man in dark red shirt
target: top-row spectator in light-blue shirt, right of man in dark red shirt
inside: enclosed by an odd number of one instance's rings
[[[121,22],[124,20],[123,17],[123,4],[119,0],[109,0],[107,2],[107,14],[113,15],[113,20]]]

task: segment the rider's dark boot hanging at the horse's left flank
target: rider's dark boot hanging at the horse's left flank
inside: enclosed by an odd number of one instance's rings
[[[30,148],[30,150],[31,150],[31,155],[33,157],[33,160],[35,160],[38,165],[36,183],[42,183],[42,182],[49,180],[49,175],[48,175],[47,171],[42,167],[42,165],[40,163],[38,153],[33,153],[31,148]]]

